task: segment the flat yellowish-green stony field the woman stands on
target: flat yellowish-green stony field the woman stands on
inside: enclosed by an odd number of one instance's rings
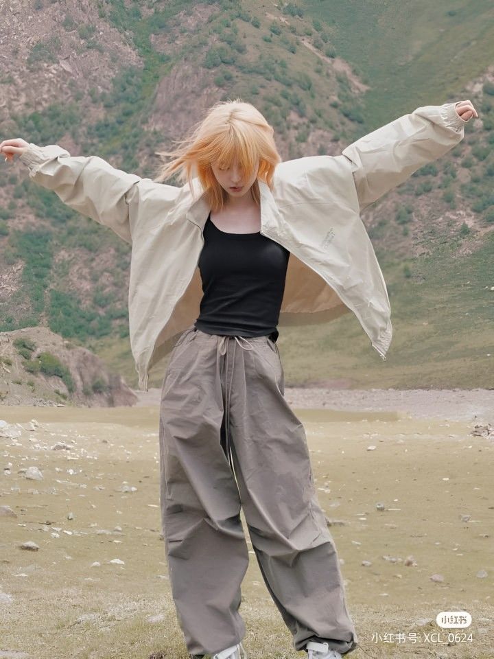
[[[297,415],[320,505],[342,522],[331,534],[360,641],[352,659],[490,659],[492,441],[472,437],[464,421],[392,412]],[[34,417],[40,428],[3,440],[4,466],[12,466],[0,476],[0,504],[17,518],[0,520],[0,656],[186,659],[160,538],[158,408],[3,407],[1,417]],[[50,450],[56,441],[71,450]],[[376,449],[369,451],[371,443]],[[30,465],[43,481],[19,473]],[[137,491],[121,492],[124,483]],[[465,514],[470,520],[461,520]],[[242,523],[248,538],[244,513]],[[21,550],[27,540],[39,550]],[[405,566],[410,555],[416,566]],[[480,570],[487,577],[478,577]],[[432,581],[434,574],[443,581]],[[294,651],[254,555],[242,593],[249,657],[305,657]],[[430,636],[440,631],[435,620],[443,610],[471,614],[471,639]],[[402,640],[383,640],[400,632]]]

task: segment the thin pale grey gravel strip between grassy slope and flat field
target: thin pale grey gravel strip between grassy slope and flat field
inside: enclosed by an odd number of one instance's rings
[[[161,389],[133,390],[138,406],[158,405]],[[494,424],[494,389],[322,389],[286,387],[292,408],[400,411],[412,417]]]

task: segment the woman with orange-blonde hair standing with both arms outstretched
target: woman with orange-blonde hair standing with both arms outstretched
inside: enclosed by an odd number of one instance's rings
[[[336,547],[316,497],[305,430],[283,396],[276,345],[279,314],[283,302],[286,314],[295,308],[322,312],[326,320],[335,317],[325,297],[330,279],[355,314],[364,308],[366,313],[357,317],[384,355],[390,340],[386,308],[382,310],[387,297],[381,293],[380,309],[377,297],[363,297],[365,290],[374,289],[375,296],[381,290],[379,276],[372,282],[366,279],[366,273],[380,275],[380,270],[373,265],[360,222],[351,224],[351,235],[344,230],[358,217],[356,204],[362,209],[455,146],[463,122],[472,116],[477,113],[469,101],[419,108],[349,146],[341,157],[300,159],[282,169],[272,127],[261,113],[239,100],[220,103],[172,152],[174,159],[153,182],[114,170],[95,157],[71,158],[58,146],[43,149],[21,139],[0,143],[6,159],[21,155],[34,181],[132,242],[132,269],[138,275],[132,284],[131,273],[130,305],[139,294],[145,306],[141,303],[141,313],[136,307],[130,316],[131,341],[140,322],[146,327],[152,323],[156,307],[168,309],[164,302],[155,303],[148,282],[164,288],[166,299],[172,288],[179,290],[169,304],[175,312],[170,316],[175,320],[167,321],[170,327],[180,327],[195,310],[193,323],[180,332],[169,359],[159,424],[163,533],[178,621],[191,656],[245,656],[239,606],[248,549],[241,506],[263,579],[292,633],[294,648],[306,650],[309,659],[340,659],[357,647]],[[275,168],[281,169],[277,185]],[[187,185],[165,186],[158,195],[151,184],[173,172],[187,178]],[[284,178],[283,172],[288,172]],[[200,181],[202,212],[208,210],[200,237],[196,222],[183,221],[191,216],[192,174]],[[276,196],[270,196],[268,188]],[[314,210],[329,196],[331,209],[341,208],[344,218],[341,225],[337,217],[331,218],[336,231],[326,231],[325,214]],[[265,224],[260,200],[266,204]],[[273,200],[273,222],[267,222]],[[344,215],[350,207],[353,214]],[[277,213],[283,222],[275,225]],[[163,251],[152,250],[152,240],[162,229]],[[303,251],[303,243],[310,251]],[[364,266],[352,255],[355,244],[365,267],[371,268],[358,277],[355,273]],[[331,258],[322,259],[325,254]],[[176,262],[192,268],[196,255],[199,309],[191,302],[189,275],[180,277],[180,270],[173,270]],[[153,259],[159,259],[155,267]],[[343,270],[342,279],[331,270],[326,281],[314,279],[307,288],[309,268],[298,270],[307,277],[292,277],[290,294],[285,294],[290,262],[309,264],[323,277],[325,271],[318,267],[322,261],[326,266],[326,259],[331,268]],[[162,287],[167,276],[173,286]],[[321,288],[314,294],[317,286]],[[360,293],[352,297],[355,291]],[[311,299],[309,307],[304,307],[305,297]],[[381,319],[377,311],[384,318],[376,321],[384,328],[381,343],[382,336],[374,336],[369,321],[373,312]],[[136,361],[143,365],[138,369],[140,386],[147,386],[156,345],[173,338],[172,329],[162,329],[156,338],[165,315],[160,325],[153,325],[148,351],[137,349],[137,339],[132,343]],[[145,359],[139,362],[141,354]]]

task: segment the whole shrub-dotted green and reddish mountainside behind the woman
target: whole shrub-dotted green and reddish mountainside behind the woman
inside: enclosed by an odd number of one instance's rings
[[[283,327],[279,345],[287,384],[494,386],[490,3],[36,0],[28,16],[15,3],[0,13],[11,35],[0,44],[4,137],[140,176],[154,177],[155,152],[220,99],[255,104],[285,160],[339,154],[416,107],[470,99],[480,117],[465,139],[362,216],[392,303],[388,360],[353,314]],[[130,246],[21,163],[0,165],[0,332],[45,325],[137,386]]]

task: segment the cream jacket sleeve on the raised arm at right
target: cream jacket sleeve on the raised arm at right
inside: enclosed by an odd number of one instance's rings
[[[417,108],[342,151],[351,161],[360,211],[463,139],[467,122],[455,106],[445,103]]]

